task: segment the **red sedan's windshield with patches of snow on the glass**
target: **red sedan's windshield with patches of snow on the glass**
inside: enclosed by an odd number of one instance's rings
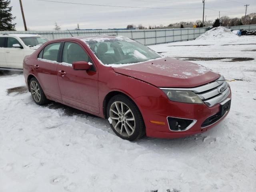
[[[103,64],[130,64],[161,56],[150,48],[129,38],[90,38],[86,44]]]

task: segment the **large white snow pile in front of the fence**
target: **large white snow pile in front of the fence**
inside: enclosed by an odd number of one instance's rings
[[[206,31],[204,34],[196,38],[196,40],[219,40],[223,38],[234,39],[238,38],[238,36],[236,36],[227,28],[220,26]]]

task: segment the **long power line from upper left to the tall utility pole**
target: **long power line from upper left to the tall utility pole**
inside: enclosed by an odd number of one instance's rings
[[[120,7],[120,8],[142,8],[142,9],[198,9],[195,8],[169,8],[169,7],[133,7],[133,6],[116,6],[116,5],[103,5],[103,4],[87,4],[87,3],[74,3],[74,2],[63,2],[63,1],[52,1],[52,0],[38,0],[45,2],[54,2],[54,3],[65,3],[65,4],[76,4],[76,5],[89,5],[89,6],[103,6],[103,7]]]

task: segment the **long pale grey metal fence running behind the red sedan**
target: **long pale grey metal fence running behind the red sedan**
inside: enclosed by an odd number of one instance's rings
[[[121,35],[132,38],[144,45],[193,40],[206,32],[207,28],[146,29],[146,30],[70,30],[73,36]],[[40,34],[49,40],[70,37],[68,31],[0,31],[4,33]]]

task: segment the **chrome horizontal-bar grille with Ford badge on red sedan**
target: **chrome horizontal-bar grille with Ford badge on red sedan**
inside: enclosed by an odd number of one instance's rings
[[[220,92],[220,88],[223,87],[223,92]],[[198,97],[208,106],[212,107],[218,103],[224,101],[230,94],[230,88],[228,83],[224,80],[223,76],[220,76],[217,80],[208,84],[194,87],[194,88],[161,88],[166,90],[187,90],[193,91]]]

